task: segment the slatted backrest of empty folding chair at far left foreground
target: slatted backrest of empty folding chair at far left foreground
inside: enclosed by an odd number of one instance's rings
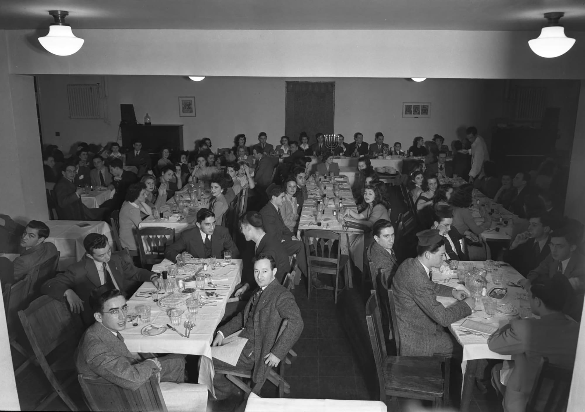
[[[71,314],[65,303],[49,296],[34,300],[29,307],[18,311],[18,317],[37,358],[81,337],[81,319]]]

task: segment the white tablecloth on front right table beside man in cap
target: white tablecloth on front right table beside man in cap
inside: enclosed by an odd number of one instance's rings
[[[482,267],[482,268],[484,267],[484,262],[477,262],[477,261],[476,262],[459,262],[459,265],[462,265],[463,263],[466,263],[467,265],[470,265],[472,267]],[[512,267],[512,266],[501,266],[498,269],[498,271],[503,272],[503,274],[504,274],[504,279],[502,281],[502,284],[495,285],[491,279],[491,273],[490,273],[487,275],[487,280],[488,280],[487,291],[489,292],[491,290],[491,288],[493,288],[495,286],[507,287],[508,293],[506,294],[506,296],[502,300],[498,301],[498,304],[512,302],[512,303],[514,303],[515,307],[518,308],[518,310],[519,310],[520,304],[518,301],[518,294],[526,295],[526,291],[524,289],[522,289],[521,287],[507,286],[507,283],[508,283],[508,280],[517,282],[520,279],[524,279],[524,277],[522,277],[522,275],[519,274],[518,271],[516,269],[514,269],[514,267]],[[435,282],[438,282],[438,283],[440,282],[441,284],[445,284],[446,286],[455,287],[455,289],[466,290],[463,285],[460,285],[457,283],[457,274],[455,274],[453,276],[450,276],[450,275],[446,276],[445,274],[439,273],[438,270],[433,269],[432,275],[433,275],[433,281],[435,281]],[[442,280],[447,279],[448,277],[454,277],[455,279],[450,279],[446,283],[445,283],[445,281],[442,281]],[[452,305],[453,303],[456,302],[455,298],[452,298],[452,297],[439,296],[439,297],[437,297],[437,300],[439,302],[441,302],[443,304],[443,306],[445,306],[445,307],[448,307],[449,305]],[[477,312],[474,312],[469,317],[463,318],[462,320],[459,320],[457,322],[453,322],[451,325],[449,325],[449,330],[451,331],[453,336],[455,336],[455,338],[457,339],[457,342],[459,342],[459,344],[463,346],[463,362],[461,364],[463,375],[465,375],[467,361],[470,361],[472,359],[510,359],[511,358],[510,355],[500,355],[500,353],[495,353],[495,352],[490,351],[490,349],[487,346],[487,338],[485,338],[483,336],[477,336],[477,335],[464,335],[464,336],[462,336],[462,334],[464,334],[465,332],[461,331],[459,329],[459,327],[463,323],[463,321],[468,319],[468,318],[473,319],[476,322],[495,326],[497,328],[500,328],[500,327],[504,326],[505,324],[507,324],[508,322],[510,322],[511,317],[501,315],[498,313],[495,313],[489,319],[483,319],[484,317],[488,317],[488,315],[483,310],[483,303],[482,302],[477,302],[475,308],[478,310]]]

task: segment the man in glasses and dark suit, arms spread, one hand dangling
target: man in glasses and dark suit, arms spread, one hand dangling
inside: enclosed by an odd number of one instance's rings
[[[67,303],[74,313],[82,313],[86,324],[93,322],[93,313],[89,307],[90,293],[95,288],[107,285],[108,289],[126,290],[129,281],[152,281],[160,287],[159,275],[146,269],[138,269],[128,259],[112,255],[108,238],[91,233],[83,239],[85,256],[47,280],[41,287],[41,293],[54,299],[67,298]]]

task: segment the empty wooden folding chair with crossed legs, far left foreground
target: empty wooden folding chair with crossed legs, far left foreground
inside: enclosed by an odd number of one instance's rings
[[[74,352],[83,332],[81,319],[74,316],[67,304],[49,296],[41,296],[25,310],[18,311],[20,323],[54,392],[49,393],[35,410],[44,410],[59,396],[72,410],[77,406],[65,392],[75,382]],[[51,363],[47,357],[53,359]],[[64,372],[63,379],[57,379],[56,373]]]

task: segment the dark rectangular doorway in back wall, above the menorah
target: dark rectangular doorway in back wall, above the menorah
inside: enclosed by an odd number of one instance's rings
[[[334,81],[287,81],[284,134],[297,140],[307,132],[309,145],[315,134],[332,134],[335,125]]]

